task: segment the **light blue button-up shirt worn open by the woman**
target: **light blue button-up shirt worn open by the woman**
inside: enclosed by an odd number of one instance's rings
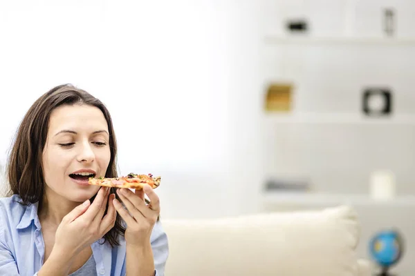
[[[44,263],[45,245],[42,226],[37,216],[37,203],[23,206],[18,195],[0,199],[0,275],[35,276]],[[126,274],[126,244],[111,248],[103,239],[91,245],[97,275],[124,276]],[[156,275],[163,276],[169,254],[167,235],[160,221],[151,233]]]

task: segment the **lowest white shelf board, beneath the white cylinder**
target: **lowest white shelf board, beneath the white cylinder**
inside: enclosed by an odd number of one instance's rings
[[[400,204],[415,206],[415,196],[397,196],[394,199],[373,199],[369,195],[357,194],[330,194],[330,193],[302,193],[302,192],[268,192],[263,195],[263,202],[271,205],[296,206],[327,206],[327,205],[373,205],[373,204]]]

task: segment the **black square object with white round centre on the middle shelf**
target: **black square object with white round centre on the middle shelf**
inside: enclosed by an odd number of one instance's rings
[[[392,93],[388,88],[367,88],[362,95],[362,109],[368,116],[387,116],[392,112]]]

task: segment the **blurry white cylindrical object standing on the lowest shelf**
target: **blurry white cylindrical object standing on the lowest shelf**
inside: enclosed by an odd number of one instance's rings
[[[373,199],[393,199],[396,195],[395,175],[389,170],[377,170],[370,177],[370,196]]]

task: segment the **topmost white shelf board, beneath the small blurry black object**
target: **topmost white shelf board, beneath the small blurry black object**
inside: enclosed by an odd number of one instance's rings
[[[266,36],[267,44],[415,46],[415,38]]]

